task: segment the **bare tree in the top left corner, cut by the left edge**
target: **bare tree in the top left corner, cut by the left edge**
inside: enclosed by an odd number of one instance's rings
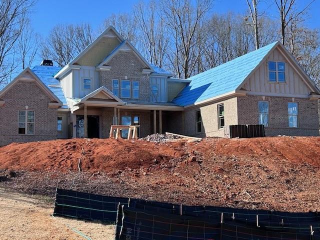
[[[33,0],[0,1],[0,84],[10,80],[16,68],[14,45],[33,3]]]

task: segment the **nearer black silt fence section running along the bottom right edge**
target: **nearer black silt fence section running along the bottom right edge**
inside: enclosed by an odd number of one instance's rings
[[[212,219],[207,216],[187,216],[154,213],[122,206],[121,227],[115,239],[251,239],[251,240],[307,240],[320,239],[318,229],[313,234],[297,232],[293,228],[255,226],[241,220]]]

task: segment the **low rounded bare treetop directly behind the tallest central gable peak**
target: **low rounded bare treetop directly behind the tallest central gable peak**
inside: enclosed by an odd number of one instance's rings
[[[133,45],[136,43],[136,22],[131,13],[111,14],[100,27],[100,32],[109,26],[113,26],[124,39],[128,39]]]

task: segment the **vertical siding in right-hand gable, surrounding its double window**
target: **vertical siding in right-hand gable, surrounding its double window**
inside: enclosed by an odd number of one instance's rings
[[[268,81],[268,61],[285,62],[285,83]],[[296,95],[305,97],[310,93],[309,87],[304,83],[298,72],[292,68],[292,65],[286,60],[282,52],[275,48],[267,60],[258,67],[249,79],[242,86],[245,90],[252,93],[277,93],[286,95]]]

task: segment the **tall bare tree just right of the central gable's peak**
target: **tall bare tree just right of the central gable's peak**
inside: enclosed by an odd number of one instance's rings
[[[140,2],[134,7],[134,19],[139,39],[138,48],[144,53],[145,58],[159,67],[164,66],[168,46],[168,35],[165,31],[164,21],[157,12],[156,2],[151,0],[147,5]]]

